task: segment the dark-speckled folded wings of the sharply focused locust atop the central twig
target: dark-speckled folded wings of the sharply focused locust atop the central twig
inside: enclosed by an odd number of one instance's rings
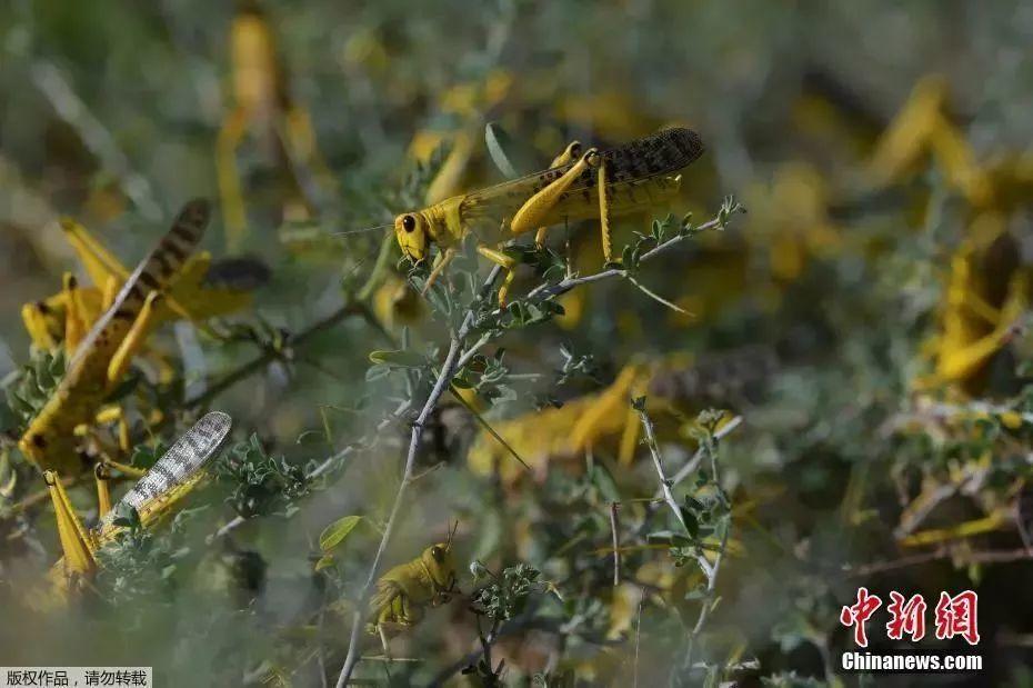
[[[675,193],[682,170],[703,154],[703,142],[689,129],[664,129],[600,151],[606,166],[610,212],[619,215],[644,208]],[[513,217],[524,202],[559,179],[575,162],[507,181],[467,195],[460,206],[463,222],[500,222]],[[550,225],[584,220],[599,215],[598,169],[589,168],[560,197],[549,217]]]

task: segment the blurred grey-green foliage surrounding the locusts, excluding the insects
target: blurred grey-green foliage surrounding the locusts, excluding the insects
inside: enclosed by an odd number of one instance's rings
[[[249,222],[240,253],[268,265],[270,281],[255,291],[252,309],[222,322],[230,332],[222,341],[183,325],[158,337],[179,361],[181,383],[151,389],[144,370],[140,385],[164,395],[174,427],[157,438],[136,428],[147,440],[137,452],[152,460],[156,443],[170,443],[191,413],[218,408],[234,418],[235,445],[224,452],[219,479],[187,511],[167,527],[133,530],[106,555],[97,599],[50,614],[19,604],[59,547],[48,503],[7,512],[42,486],[8,447],[19,482],[0,524],[0,664],[153,665],[160,685],[318,686],[323,677],[332,685],[404,460],[412,417],[389,415],[405,399],[419,409],[448,348],[445,311],[461,315],[454,309],[465,308],[488,271],[472,259],[457,265],[460,293],[437,292],[432,312],[404,332],[399,326],[384,332],[371,322],[372,302],[341,310],[373,271],[382,235],[331,233],[422,205],[447,150],[417,164],[410,142],[418,132],[444,132],[448,142],[470,121],[478,137],[494,122],[508,134],[514,164],[533,171],[570,139],[612,144],[676,122],[699,131],[708,153],[685,171],[674,206],[623,222],[618,243],[633,243],[632,230],[648,231],[648,220],[669,210],[694,211],[700,225],[726,195],[745,203],[748,215],[723,231],[688,239],[638,273],[664,298],[696,297],[700,317],[686,322],[626,280],[601,281],[579,288],[588,296],[573,328],[548,308],[510,313],[484,359],[459,382],[479,385],[482,400],[494,401],[485,416],[500,422],[596,392],[629,362],[692,353],[702,381],[681,420],[710,407],[743,417],[714,449],[720,489],[705,470],[678,488],[680,501],[702,490],[696,502],[682,502],[696,531],[685,538],[662,505],[634,501],[658,489],[644,446],[631,468],[601,447],[588,468],[580,457],[574,468],[523,487],[475,475],[465,451],[478,426],[449,401],[423,442],[417,472],[428,472],[408,492],[381,570],[419,556],[458,518],[461,587],[477,585],[468,565],[479,560],[520,590],[519,604],[505,599],[514,592],[503,586],[482,594],[480,616],[463,601],[430,611],[395,646],[419,661],[388,671],[365,661],[357,676],[425,685],[453,665],[461,669],[478,649],[477,620],[485,620],[487,631],[501,618],[500,628],[509,624],[511,631],[494,659],[507,659],[505,685],[630,685],[632,672],[640,685],[860,685],[863,678],[839,671],[839,651],[849,645],[839,612],[864,584],[884,598],[896,589],[926,600],[940,590],[975,589],[986,669],[957,685],[1033,681],[1029,558],[970,556],[1021,549],[1019,529],[1005,524],[950,551],[907,549],[894,537],[923,478],[944,479],[989,460],[984,479],[931,518],[951,527],[1020,500],[1029,473],[1027,422],[1016,429],[990,417],[946,431],[921,423],[894,429],[919,408],[913,380],[930,368],[923,342],[937,331],[951,256],[971,209],[934,161],[922,159],[885,195],[870,193],[865,178],[879,133],[932,73],[945,77],[953,121],[979,159],[1029,154],[1029,7],[387,0],[270,1],[264,10],[290,96],[311,117],[332,183],[317,187],[312,218],[284,220],[293,190],[282,164],[260,137],[244,139],[238,163]],[[0,7],[0,371],[10,373],[9,388],[23,386],[22,398],[38,403],[61,369],[60,361],[30,359],[19,318],[23,302],[54,293],[62,270],[76,269],[54,220],[76,217],[132,265],[184,200],[218,198],[214,147],[232,108],[233,12],[231,3],[197,0]],[[443,102],[450,89],[492,73],[512,87],[490,108],[458,116]],[[801,116],[812,96],[834,114]],[[503,179],[485,148],[478,138],[467,188]],[[802,267],[786,278],[772,269],[775,245],[821,222],[795,198],[780,206],[774,181],[793,162],[811,166],[826,186],[822,213],[840,246],[812,250],[801,238]],[[1021,193],[1010,212],[1016,255],[1029,262],[1029,203]],[[291,231],[312,232],[315,250],[289,246],[283,237]],[[563,232],[554,232],[558,259]],[[571,236],[586,256],[578,267],[600,269],[595,226],[572,228]],[[218,215],[204,247],[227,256]],[[389,268],[399,259],[392,251]],[[535,256],[528,261],[546,258]],[[526,267],[520,276],[516,296],[541,281]],[[479,327],[492,330],[491,322]],[[370,361],[371,351],[397,349],[410,357]],[[980,397],[1025,411],[1022,330],[1005,349]],[[755,355],[743,369],[719,363],[743,350]],[[30,360],[36,372],[26,377],[19,371]],[[213,387],[251,360],[249,375]],[[17,405],[7,410],[4,430],[17,439],[29,413]],[[663,436],[669,472],[709,437]],[[138,459],[146,465],[148,456]],[[321,466],[325,472],[307,478]],[[734,547],[716,582],[720,604],[694,650],[702,664],[681,668],[683,640],[701,608],[692,564],[698,529],[729,516],[715,495],[730,500]],[[88,518],[96,513],[89,489],[73,498]],[[654,538],[655,548],[629,551],[625,576],[650,562],[685,564],[616,637],[608,637],[616,614],[606,550],[612,501],[628,502],[625,545],[672,529],[681,538]],[[363,519],[333,551],[332,566],[317,571],[320,534],[350,515]],[[248,520],[219,534],[239,518]],[[915,551],[942,556],[875,570]],[[533,571],[502,572],[518,565]],[[881,638],[881,625],[872,624]],[[367,655],[378,651],[372,637],[363,634],[362,641]],[[493,680],[492,669],[480,680]],[[450,680],[478,680],[459,676],[452,671]]]

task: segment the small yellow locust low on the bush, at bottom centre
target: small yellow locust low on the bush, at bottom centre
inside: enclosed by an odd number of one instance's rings
[[[457,591],[452,539],[458,526],[449,531],[448,540],[431,545],[419,557],[388,570],[377,581],[371,601],[375,620],[371,630],[380,634],[385,655],[389,635],[415,626],[427,607],[448,602]]]

